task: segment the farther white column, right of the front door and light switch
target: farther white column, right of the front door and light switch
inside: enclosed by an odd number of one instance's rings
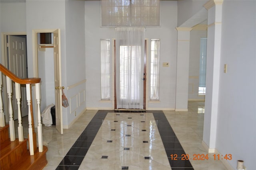
[[[178,40],[175,111],[188,111],[189,47],[192,28],[176,27],[176,30],[178,31]]]

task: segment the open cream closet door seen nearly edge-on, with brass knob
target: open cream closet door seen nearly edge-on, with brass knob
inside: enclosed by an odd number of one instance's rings
[[[53,33],[54,39],[54,84],[55,84],[55,116],[56,129],[63,134],[62,122],[62,86],[61,86],[61,55],[60,55],[60,29]]]

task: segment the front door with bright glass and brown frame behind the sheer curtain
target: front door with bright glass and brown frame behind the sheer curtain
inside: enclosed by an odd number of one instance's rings
[[[143,99],[143,109],[146,109],[146,40],[144,45],[144,56],[142,59],[139,59],[138,61],[144,61],[144,64],[142,64],[143,68],[140,67],[138,64],[138,67],[134,66],[136,64],[135,56],[133,56],[133,49],[136,50],[136,48],[139,48],[137,46],[120,46],[118,49],[120,50],[120,57],[119,63],[116,64],[116,41],[114,41],[114,72],[115,72],[115,102],[114,107],[115,109],[141,109],[139,107],[136,107],[137,105],[134,104],[134,101],[138,101],[139,99]],[[127,50],[129,52],[127,53]],[[120,68],[116,68],[119,66]],[[119,71],[119,79],[116,78],[116,71]],[[139,70],[142,70],[144,72],[143,76],[140,76],[138,74]],[[119,82],[117,82],[119,81]],[[136,82],[138,81],[138,82]],[[143,81],[143,86],[139,86],[139,81]],[[119,93],[116,93],[116,88],[119,89]],[[138,95],[136,95],[138,94]],[[117,96],[118,95],[118,96]],[[129,98],[130,102],[126,102],[126,100]],[[117,100],[119,100],[120,103],[124,101],[124,105],[117,104]],[[134,101],[133,101],[134,100]],[[127,106],[127,104],[130,104],[130,106]],[[133,106],[131,106],[133,105]],[[123,107],[122,107],[123,106]]]

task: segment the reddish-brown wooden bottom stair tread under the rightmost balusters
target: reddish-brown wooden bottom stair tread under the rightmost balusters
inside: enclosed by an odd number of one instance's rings
[[[47,164],[47,160],[46,160],[46,152],[47,152],[48,148],[44,146],[43,148],[43,152],[39,152],[38,151],[38,148],[37,150],[34,152],[34,155],[27,155],[27,156],[24,156],[22,158],[21,161],[17,162],[17,164],[15,164],[14,166],[12,166],[10,169],[15,169],[15,170],[29,170],[29,169],[34,169],[34,168],[31,168],[33,165],[33,163],[35,164],[42,164],[42,162],[36,162],[36,161],[41,161],[39,160],[40,157],[43,157],[45,156],[45,160],[44,158],[43,159],[43,164],[44,166]],[[39,168],[44,168],[44,166],[38,166],[38,168],[36,168],[37,170],[39,170]]]

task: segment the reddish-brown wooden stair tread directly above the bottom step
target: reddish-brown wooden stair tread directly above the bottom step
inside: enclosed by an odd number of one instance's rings
[[[28,139],[24,139],[24,141],[20,142],[19,139],[16,139],[15,141],[5,141],[4,143],[1,144],[1,150],[0,150],[0,155],[1,159],[7,155],[9,152],[14,150],[16,147],[21,145],[22,143],[27,143]]]

